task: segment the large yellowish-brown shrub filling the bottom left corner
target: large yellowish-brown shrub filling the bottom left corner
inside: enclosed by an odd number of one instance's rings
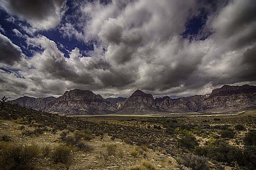
[[[33,169],[32,160],[38,157],[38,153],[37,145],[1,145],[1,169]]]

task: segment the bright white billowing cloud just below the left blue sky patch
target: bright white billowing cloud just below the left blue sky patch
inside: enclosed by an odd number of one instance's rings
[[[47,79],[57,78],[68,81],[74,81],[75,83],[93,83],[93,78],[86,72],[79,73],[76,65],[69,64],[70,60],[77,59],[79,56],[72,55],[70,59],[66,59],[64,54],[60,52],[56,43],[40,36],[38,38],[29,38],[28,42],[31,45],[40,46],[44,51],[42,53],[36,53],[30,60],[31,64],[37,71],[45,74]]]

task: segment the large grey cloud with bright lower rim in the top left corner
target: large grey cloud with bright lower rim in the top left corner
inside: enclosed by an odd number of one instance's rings
[[[56,27],[67,10],[65,0],[1,0],[0,2],[8,13],[26,20],[37,29]]]

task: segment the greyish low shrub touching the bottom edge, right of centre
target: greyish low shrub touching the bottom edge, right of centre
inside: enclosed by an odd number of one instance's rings
[[[193,170],[208,170],[210,169],[207,158],[198,155],[184,155],[182,157],[184,165],[191,167]]]

